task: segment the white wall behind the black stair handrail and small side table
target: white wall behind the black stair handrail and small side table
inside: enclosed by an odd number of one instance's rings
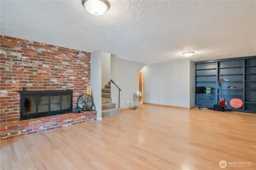
[[[139,72],[144,67],[144,63],[137,63],[120,59],[111,55],[111,79],[118,82],[120,92],[120,108],[128,107],[123,104],[130,101],[134,106],[134,94],[139,90]],[[111,83],[112,103],[118,107],[118,88]]]

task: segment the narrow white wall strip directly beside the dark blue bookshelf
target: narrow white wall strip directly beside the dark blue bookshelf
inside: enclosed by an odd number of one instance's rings
[[[195,106],[195,62],[190,60],[190,107]]]

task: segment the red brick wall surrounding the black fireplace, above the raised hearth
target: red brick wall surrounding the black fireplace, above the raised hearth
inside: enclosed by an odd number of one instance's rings
[[[0,37],[0,122],[20,118],[20,90],[73,89],[73,107],[90,84],[90,53]]]

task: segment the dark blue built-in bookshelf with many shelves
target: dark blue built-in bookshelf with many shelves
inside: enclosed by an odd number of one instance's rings
[[[218,81],[219,78],[228,81]],[[213,107],[222,97],[228,100],[227,109],[256,113],[256,56],[195,62],[195,87],[201,86],[211,87],[213,93],[210,96],[196,94],[195,107],[199,104],[200,107]],[[240,98],[244,105],[239,109],[232,108],[229,104],[232,98]]]

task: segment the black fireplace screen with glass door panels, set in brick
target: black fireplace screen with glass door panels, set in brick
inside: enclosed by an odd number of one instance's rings
[[[72,90],[21,91],[20,119],[72,112]]]

